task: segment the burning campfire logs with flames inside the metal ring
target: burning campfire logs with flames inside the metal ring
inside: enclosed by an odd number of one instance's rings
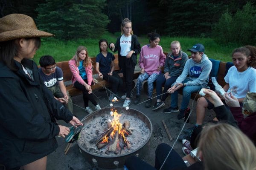
[[[100,135],[92,138],[90,144],[96,144],[98,149],[106,148],[105,153],[125,154],[126,150],[131,148],[130,142],[127,140],[128,135],[132,135],[130,121],[120,123],[120,116],[117,110],[111,109],[110,115],[113,119],[108,120],[107,127]]]

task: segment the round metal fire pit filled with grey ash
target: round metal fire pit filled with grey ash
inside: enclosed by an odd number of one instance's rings
[[[111,150],[111,148],[113,150],[112,145],[117,140],[115,140],[116,135],[113,136],[113,139],[108,137],[110,139],[110,141],[107,139],[109,143],[105,141],[106,136],[109,136],[114,131],[109,122],[116,116],[111,116],[113,115],[112,113],[110,114],[111,110],[121,114],[119,117],[121,123],[119,130],[126,129],[127,134],[129,133],[129,135],[125,136],[119,135],[121,136],[118,138],[119,142],[117,144],[119,149],[112,152],[108,150]],[[108,134],[106,135],[106,133]],[[149,118],[138,110],[109,107],[90,115],[84,121],[84,127],[80,135],[77,144],[86,160],[98,167],[113,169],[123,167],[125,159],[129,156],[143,157],[149,151],[152,124]],[[102,140],[102,137],[104,140]],[[120,141],[122,142],[120,143]]]

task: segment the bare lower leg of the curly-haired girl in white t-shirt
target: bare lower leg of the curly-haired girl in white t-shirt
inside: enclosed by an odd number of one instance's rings
[[[196,123],[202,125],[205,116],[205,109],[208,107],[208,103],[204,97],[198,98],[196,105]]]

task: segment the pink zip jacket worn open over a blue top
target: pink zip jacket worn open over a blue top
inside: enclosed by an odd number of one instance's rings
[[[73,84],[75,84],[76,81],[78,81],[80,84],[85,85],[84,80],[81,78],[79,75],[79,69],[78,66],[76,65],[76,60],[71,59],[68,61],[68,65],[70,67],[70,71],[72,72],[72,78],[71,81]],[[87,81],[88,84],[91,85],[93,81],[93,66],[90,64],[88,67],[85,67],[85,72],[87,75]]]

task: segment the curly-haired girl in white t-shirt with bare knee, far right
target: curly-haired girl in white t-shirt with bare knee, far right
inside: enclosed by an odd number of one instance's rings
[[[256,47],[244,46],[235,49],[232,61],[234,66],[230,67],[224,78],[226,84],[223,89],[225,92],[231,92],[241,104],[247,92],[256,92]],[[199,98],[196,107],[196,127],[203,124],[207,107],[212,109],[212,103],[204,97]]]

